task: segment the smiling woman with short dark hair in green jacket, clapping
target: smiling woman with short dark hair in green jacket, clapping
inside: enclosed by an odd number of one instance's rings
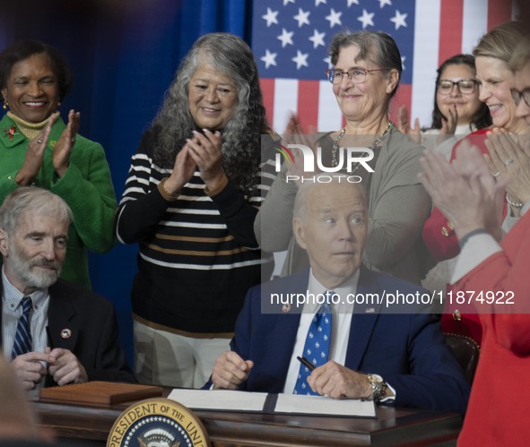
[[[18,186],[39,185],[74,213],[62,278],[90,288],[87,248],[116,243],[114,186],[103,148],[77,133],[79,112],[66,124],[57,108],[72,88],[72,72],[54,47],[20,40],[0,54],[0,203]]]

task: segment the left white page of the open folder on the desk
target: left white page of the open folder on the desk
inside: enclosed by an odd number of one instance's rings
[[[173,390],[168,396],[188,408],[263,411],[266,392],[230,390]]]

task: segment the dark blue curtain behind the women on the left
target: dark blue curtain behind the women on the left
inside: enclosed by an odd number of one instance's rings
[[[208,32],[248,41],[250,10],[250,0],[16,0],[2,6],[0,47],[38,39],[66,56],[74,89],[62,115],[81,111],[80,133],[105,148],[119,200],[130,158],[182,57]],[[92,287],[115,303],[130,360],[136,251],[117,245],[108,254],[91,254]]]

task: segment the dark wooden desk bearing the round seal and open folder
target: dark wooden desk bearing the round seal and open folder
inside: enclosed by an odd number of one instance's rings
[[[39,402],[32,406],[42,426],[64,438],[99,440],[105,445],[114,421],[129,404],[110,408]],[[455,440],[462,417],[454,413],[378,408],[377,419],[292,417],[196,411],[215,447],[434,445]]]

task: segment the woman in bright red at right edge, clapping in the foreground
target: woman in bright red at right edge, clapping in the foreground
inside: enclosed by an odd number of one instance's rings
[[[530,126],[528,36],[517,47],[510,66],[516,70],[512,89],[516,115]],[[528,140],[515,143],[501,137],[500,142],[497,152],[514,159],[504,171],[514,167],[528,171]],[[526,212],[530,209],[530,185],[520,182],[515,187],[509,181],[510,200],[524,203],[522,217],[499,245],[497,216],[504,198],[503,185],[509,177],[500,171],[496,183],[491,165],[486,166],[474,148],[458,150],[456,161],[449,166],[441,156],[427,153],[422,160],[425,174],[421,176],[433,202],[453,219],[462,248],[453,276],[453,296],[469,297],[473,292],[474,297],[482,293],[482,297],[494,294],[496,298],[495,304],[475,300],[483,330],[482,351],[457,445],[522,447],[528,445],[524,427],[530,398],[530,212]]]

